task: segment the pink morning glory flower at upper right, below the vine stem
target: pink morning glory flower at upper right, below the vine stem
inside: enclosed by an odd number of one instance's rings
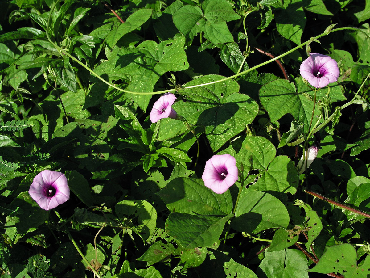
[[[303,61],[299,70],[302,77],[315,88],[336,82],[339,77],[336,60],[319,53],[310,53],[310,57]]]

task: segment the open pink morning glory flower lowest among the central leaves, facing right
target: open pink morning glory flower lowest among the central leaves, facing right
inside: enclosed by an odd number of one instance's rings
[[[226,192],[238,179],[235,158],[229,154],[212,156],[206,161],[202,179],[213,192]]]

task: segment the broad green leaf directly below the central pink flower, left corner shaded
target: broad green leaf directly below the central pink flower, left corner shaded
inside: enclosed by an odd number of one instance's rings
[[[228,215],[232,211],[230,191],[217,194],[202,179],[175,178],[158,195],[171,212],[193,215]]]

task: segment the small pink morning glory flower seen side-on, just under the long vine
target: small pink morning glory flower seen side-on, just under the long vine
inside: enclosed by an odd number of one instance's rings
[[[152,123],[158,122],[158,120],[163,118],[176,119],[177,113],[172,109],[172,104],[176,97],[172,93],[166,93],[154,103],[152,111],[150,112],[150,120]]]

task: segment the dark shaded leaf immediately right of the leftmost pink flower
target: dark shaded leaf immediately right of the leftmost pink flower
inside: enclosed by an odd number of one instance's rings
[[[76,170],[65,171],[65,176],[68,181],[68,186],[74,195],[77,196],[88,207],[92,206],[91,189],[83,175]]]

